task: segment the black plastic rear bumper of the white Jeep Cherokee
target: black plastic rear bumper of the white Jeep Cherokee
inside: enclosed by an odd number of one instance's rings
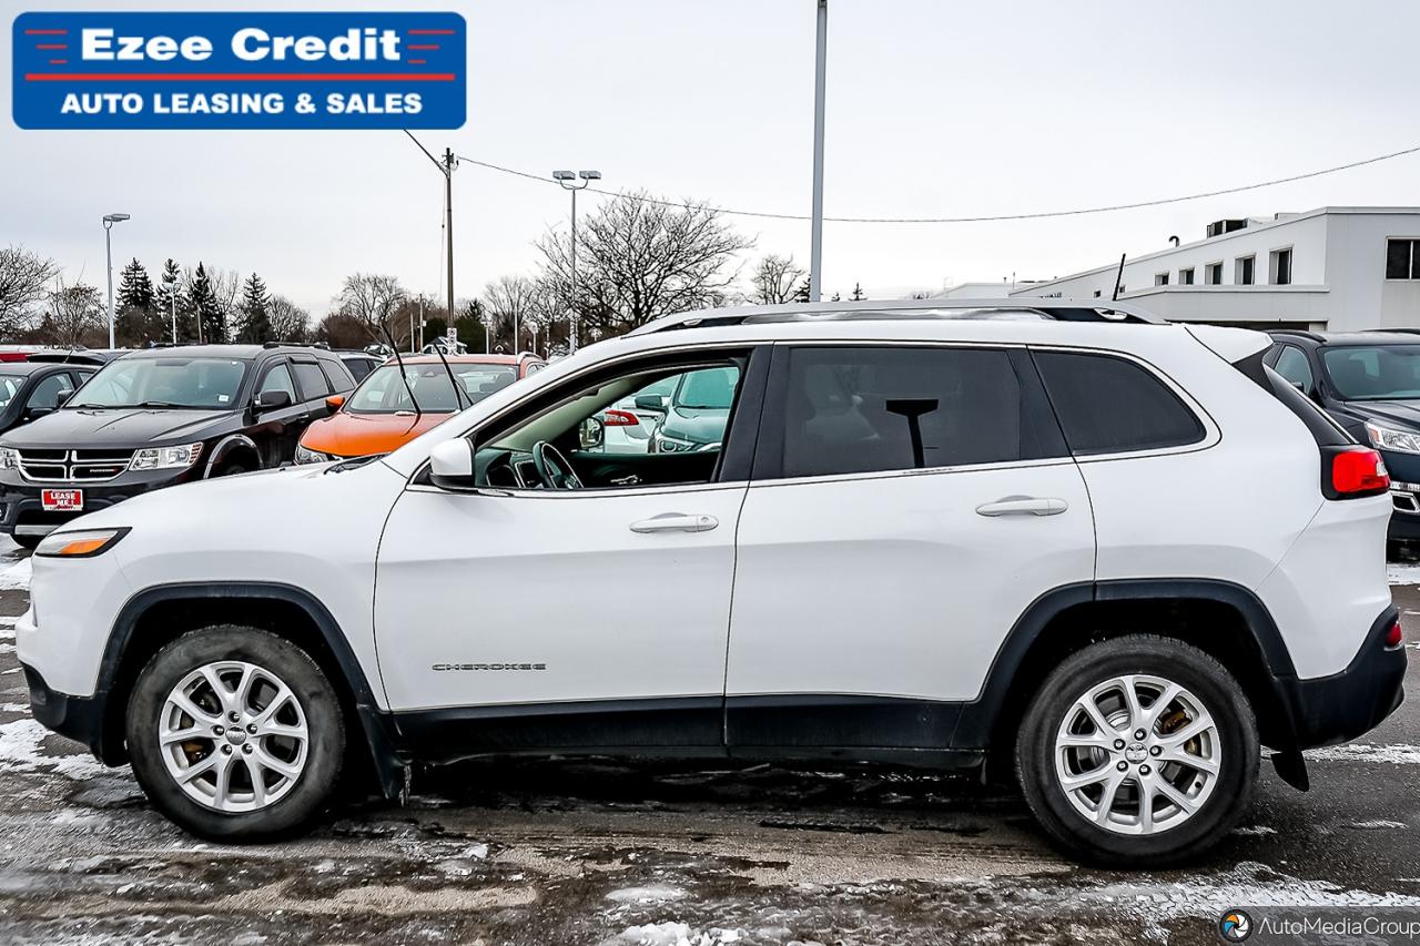
[[[1399,612],[1387,608],[1350,665],[1331,676],[1278,680],[1288,705],[1295,749],[1335,746],[1369,733],[1404,700],[1406,649],[1386,648]]]

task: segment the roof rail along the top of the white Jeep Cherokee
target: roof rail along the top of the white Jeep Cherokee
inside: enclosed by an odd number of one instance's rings
[[[1072,298],[897,298],[865,303],[792,303],[788,305],[736,305],[676,312],[652,320],[628,335],[649,335],[674,328],[755,325],[764,322],[814,322],[889,318],[1051,318],[1062,322],[1135,322],[1164,325],[1164,320],[1127,303]]]

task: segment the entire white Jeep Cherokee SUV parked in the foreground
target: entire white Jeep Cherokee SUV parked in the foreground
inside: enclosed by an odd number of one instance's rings
[[[34,716],[207,838],[308,825],[348,753],[390,797],[659,753],[1014,766],[1078,857],[1196,855],[1260,744],[1305,785],[1400,703],[1389,483],[1265,335],[1100,305],[670,317],[378,460],[87,516],[34,558]],[[709,368],[719,449],[581,449]]]

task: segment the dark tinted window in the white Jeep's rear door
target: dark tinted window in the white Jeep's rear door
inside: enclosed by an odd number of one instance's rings
[[[777,368],[784,418],[780,476],[1064,455],[1038,386],[1021,384],[1005,351],[883,345],[785,354],[787,365]]]

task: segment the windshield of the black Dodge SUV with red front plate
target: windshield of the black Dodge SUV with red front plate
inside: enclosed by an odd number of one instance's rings
[[[70,408],[231,408],[247,362],[231,358],[121,358],[94,375]]]

